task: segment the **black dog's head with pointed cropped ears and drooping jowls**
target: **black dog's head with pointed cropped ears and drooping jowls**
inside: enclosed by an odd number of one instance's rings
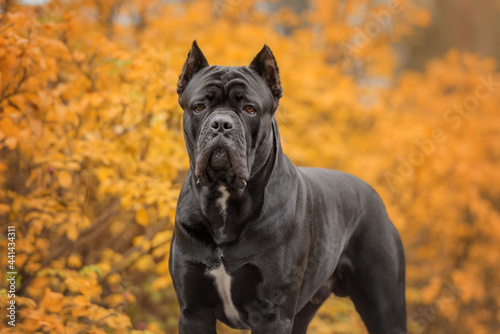
[[[196,41],[177,86],[184,138],[200,186],[240,190],[265,161],[282,89],[264,46],[249,66],[209,66]],[[268,150],[267,150],[268,151]]]

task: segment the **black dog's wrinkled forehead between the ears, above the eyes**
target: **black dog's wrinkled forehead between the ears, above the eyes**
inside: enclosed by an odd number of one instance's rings
[[[196,73],[182,94],[182,101],[188,103],[207,95],[215,98],[230,94],[251,100],[272,98],[264,80],[248,66],[212,65]]]

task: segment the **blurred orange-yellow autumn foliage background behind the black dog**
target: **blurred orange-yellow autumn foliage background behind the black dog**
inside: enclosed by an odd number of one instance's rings
[[[410,333],[500,331],[498,0],[0,4],[2,334],[176,333],[167,259],[189,165],[175,91],[194,39],[211,64],[269,45],[285,152],[380,193],[406,249]],[[332,297],[309,332],[366,330]]]

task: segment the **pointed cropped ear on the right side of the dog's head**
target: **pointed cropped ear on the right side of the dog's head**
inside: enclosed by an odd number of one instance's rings
[[[264,45],[249,67],[264,79],[275,98],[279,99],[283,96],[278,64],[276,64],[276,59],[267,45]]]

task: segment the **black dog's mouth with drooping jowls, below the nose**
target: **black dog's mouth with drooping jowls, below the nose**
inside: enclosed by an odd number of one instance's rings
[[[200,186],[219,183],[243,189],[248,180],[244,150],[220,141],[211,143],[200,150],[195,173]]]

